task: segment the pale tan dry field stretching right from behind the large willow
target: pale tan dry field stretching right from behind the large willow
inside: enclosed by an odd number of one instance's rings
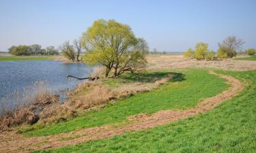
[[[216,68],[235,71],[256,69],[256,61],[237,61],[233,59],[224,59],[222,61],[197,61],[195,59],[184,58],[182,55],[148,56],[147,61],[151,69],[178,69],[186,67]]]

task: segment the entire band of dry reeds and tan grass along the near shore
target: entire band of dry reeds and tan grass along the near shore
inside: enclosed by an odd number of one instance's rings
[[[102,73],[102,68],[96,70],[93,75]],[[58,96],[51,95],[44,82],[38,82],[33,88],[26,89],[27,92],[24,92],[23,98],[14,96],[18,98],[15,98],[12,105],[8,105],[8,99],[1,103],[0,131],[11,130],[13,126],[20,124],[63,122],[89,109],[104,106],[102,104],[108,103],[112,99],[122,99],[139,92],[153,90],[173,77],[174,74],[169,74],[165,78],[156,78],[154,82],[132,82],[121,84],[115,88],[104,84],[104,79],[83,82],[69,92],[65,103],[60,103]]]

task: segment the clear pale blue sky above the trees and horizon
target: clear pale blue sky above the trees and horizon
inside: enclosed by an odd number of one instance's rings
[[[130,25],[150,49],[182,52],[203,41],[218,49],[229,35],[256,48],[256,0],[0,0],[0,51],[14,45],[58,48],[94,20]]]

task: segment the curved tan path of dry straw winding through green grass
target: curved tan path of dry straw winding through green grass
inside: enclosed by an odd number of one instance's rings
[[[154,126],[167,124],[175,120],[196,116],[199,113],[213,109],[223,101],[231,99],[238,95],[244,88],[240,80],[229,75],[216,74],[210,71],[212,75],[217,75],[220,78],[227,80],[230,87],[220,94],[203,99],[198,105],[190,109],[184,110],[162,110],[152,115],[138,114],[130,116],[128,120],[134,120],[131,124],[127,124],[118,128],[111,125],[92,127],[82,129],[80,131],[73,131],[70,133],[60,133],[58,135],[49,135],[45,137],[31,137],[25,138],[16,134],[14,131],[0,134],[0,152],[29,152],[32,150],[43,150],[46,148],[59,148],[76,143],[82,143],[93,139],[104,139],[112,137],[113,135],[122,135],[124,132],[142,131]]]

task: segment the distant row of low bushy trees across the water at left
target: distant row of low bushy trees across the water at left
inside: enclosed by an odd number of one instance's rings
[[[59,54],[59,50],[56,50],[54,46],[48,46],[46,48],[42,48],[42,46],[38,44],[33,44],[31,46],[19,45],[12,46],[8,49],[10,54],[14,54],[16,56],[21,55],[54,55]]]

